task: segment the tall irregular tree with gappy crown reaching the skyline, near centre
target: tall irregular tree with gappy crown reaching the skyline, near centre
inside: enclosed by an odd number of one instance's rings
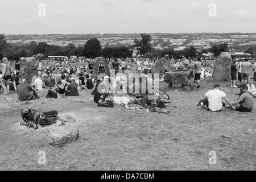
[[[134,39],[134,47],[137,48],[139,54],[144,56],[145,53],[148,53],[152,50],[152,38],[150,34],[141,34],[142,39]]]

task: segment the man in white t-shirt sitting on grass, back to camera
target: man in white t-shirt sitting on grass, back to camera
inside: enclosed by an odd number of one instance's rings
[[[220,85],[216,84],[213,86],[213,88],[213,90],[205,93],[205,96],[199,101],[199,105],[201,105],[201,103],[203,102],[203,105],[207,106],[208,111],[222,111],[223,107],[226,106],[226,104],[222,102],[223,98],[226,102],[228,102],[229,106],[232,106],[233,109],[236,109],[232,105],[232,102],[228,100],[226,94],[220,90]]]

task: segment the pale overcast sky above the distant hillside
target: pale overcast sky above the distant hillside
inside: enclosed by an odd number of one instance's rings
[[[256,32],[255,12],[255,0],[0,0],[0,34]]]

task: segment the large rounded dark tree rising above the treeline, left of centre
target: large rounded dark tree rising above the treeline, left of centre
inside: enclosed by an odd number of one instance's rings
[[[84,45],[84,56],[95,58],[100,55],[101,42],[98,39],[90,39]]]

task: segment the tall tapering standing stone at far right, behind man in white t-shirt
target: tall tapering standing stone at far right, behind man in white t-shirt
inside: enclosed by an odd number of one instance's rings
[[[214,65],[212,78],[214,80],[229,81],[231,64],[231,54],[229,52],[221,52],[220,56],[218,56],[218,59]]]

